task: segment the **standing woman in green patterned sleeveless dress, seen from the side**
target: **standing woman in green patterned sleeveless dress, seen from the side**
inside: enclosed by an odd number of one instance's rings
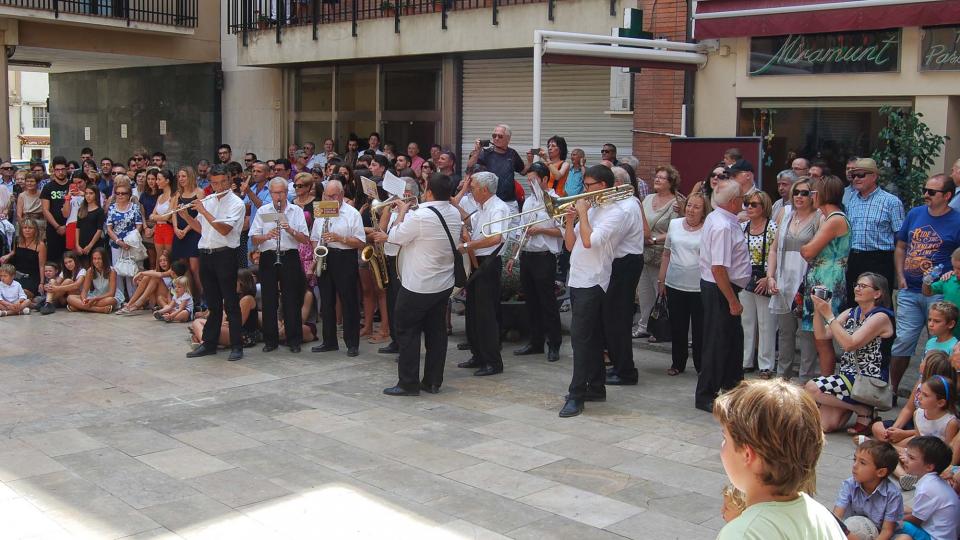
[[[850,224],[840,211],[843,201],[843,182],[836,176],[828,176],[813,182],[813,205],[820,211],[817,234],[800,248],[800,255],[809,261],[804,288],[807,296],[803,303],[803,330],[813,330],[813,300],[809,292],[814,287],[830,292],[834,312],[840,311],[847,297],[847,255],[850,253]],[[833,375],[837,359],[829,337],[814,342],[820,358],[820,375]]]

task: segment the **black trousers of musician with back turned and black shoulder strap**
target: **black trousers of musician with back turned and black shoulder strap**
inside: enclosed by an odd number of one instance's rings
[[[443,364],[447,360],[447,299],[453,288],[438,293],[415,293],[400,287],[397,293],[397,333],[400,361],[397,385],[406,390],[420,388],[420,334],[427,353],[423,359],[423,384],[443,383]],[[391,319],[392,321],[392,319]]]

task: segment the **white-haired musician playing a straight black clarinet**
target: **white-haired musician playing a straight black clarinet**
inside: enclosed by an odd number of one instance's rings
[[[310,242],[307,220],[303,209],[287,202],[287,181],[274,177],[270,180],[270,202],[257,209],[250,224],[250,240],[260,252],[260,297],[263,301],[263,352],[275,350],[280,344],[277,322],[278,291],[283,294],[283,327],[290,352],[300,352],[303,343],[303,307],[306,276],[300,264],[299,245]],[[264,215],[279,216],[279,220],[264,221]],[[279,221],[280,225],[277,226]],[[277,246],[279,245],[279,253]]]

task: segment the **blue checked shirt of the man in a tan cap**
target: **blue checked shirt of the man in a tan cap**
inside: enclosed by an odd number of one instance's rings
[[[863,198],[854,193],[847,198],[851,251],[893,251],[894,235],[903,226],[903,203],[878,187]]]

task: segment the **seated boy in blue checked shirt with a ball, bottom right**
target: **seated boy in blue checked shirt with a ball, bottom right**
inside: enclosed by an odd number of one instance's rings
[[[890,479],[899,463],[897,449],[888,442],[870,440],[857,447],[853,476],[840,485],[833,514],[854,530],[852,518],[869,519],[877,533],[861,540],[889,540],[903,519],[903,495]]]

